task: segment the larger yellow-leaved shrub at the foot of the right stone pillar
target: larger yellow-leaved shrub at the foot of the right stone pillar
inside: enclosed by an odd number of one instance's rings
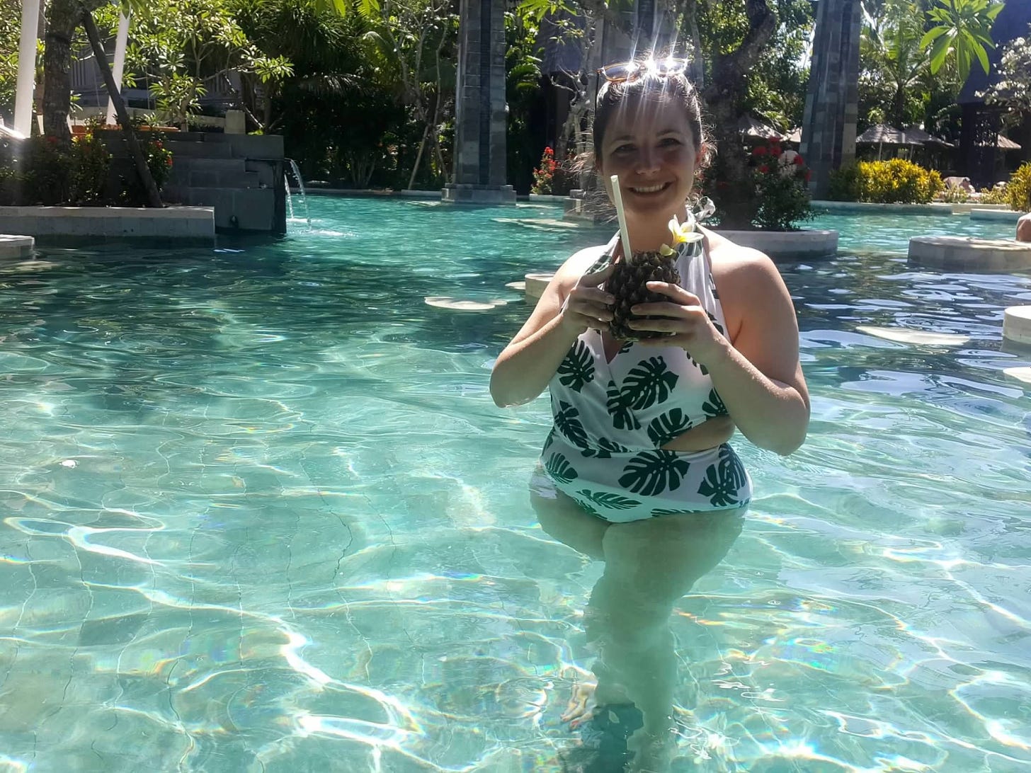
[[[831,173],[832,199],[927,204],[945,188],[941,175],[904,159],[861,161]]]

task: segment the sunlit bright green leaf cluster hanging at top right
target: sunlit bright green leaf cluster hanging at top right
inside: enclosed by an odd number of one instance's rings
[[[992,0],[938,0],[938,5],[927,12],[935,26],[920,41],[922,48],[931,46],[931,73],[937,73],[952,53],[960,82],[966,82],[975,59],[987,74],[991,66],[988,52],[995,47],[992,23],[1002,5]]]

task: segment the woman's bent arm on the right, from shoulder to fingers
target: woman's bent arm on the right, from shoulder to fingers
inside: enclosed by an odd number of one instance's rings
[[[761,448],[787,456],[805,440],[809,424],[809,393],[798,359],[795,308],[780,274],[765,255],[737,247],[731,261],[721,271],[720,297],[728,322],[739,320],[733,344],[713,328],[698,298],[664,282],[648,287],[669,296],[672,303],[642,304],[633,311],[672,318],[639,321],[634,327],[673,331],[674,340],[708,369],[712,385],[741,433]],[[671,341],[652,342],[669,345]]]

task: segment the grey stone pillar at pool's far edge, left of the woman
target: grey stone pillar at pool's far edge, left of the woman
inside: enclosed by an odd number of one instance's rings
[[[504,0],[461,0],[452,204],[513,204],[505,176]]]

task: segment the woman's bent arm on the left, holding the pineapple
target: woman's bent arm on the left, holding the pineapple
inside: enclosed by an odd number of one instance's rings
[[[606,307],[611,298],[598,288],[611,269],[581,276],[597,254],[597,247],[584,249],[565,262],[498,356],[491,372],[491,397],[498,406],[522,405],[540,395],[577,336],[611,318]]]

